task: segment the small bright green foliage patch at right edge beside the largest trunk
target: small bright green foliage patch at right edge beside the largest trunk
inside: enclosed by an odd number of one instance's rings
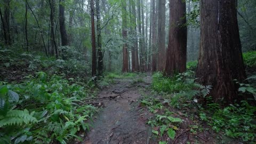
[[[249,68],[256,68],[256,51],[243,53],[244,63]]]

